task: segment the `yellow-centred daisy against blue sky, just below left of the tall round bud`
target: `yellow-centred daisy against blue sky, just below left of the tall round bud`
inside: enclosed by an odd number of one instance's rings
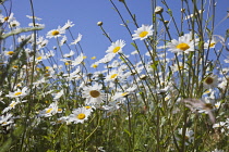
[[[140,39],[140,40],[144,40],[147,37],[153,35],[153,25],[148,26],[148,25],[142,25],[142,27],[137,28],[136,30],[134,30],[135,34],[132,35],[132,40],[135,39]]]

